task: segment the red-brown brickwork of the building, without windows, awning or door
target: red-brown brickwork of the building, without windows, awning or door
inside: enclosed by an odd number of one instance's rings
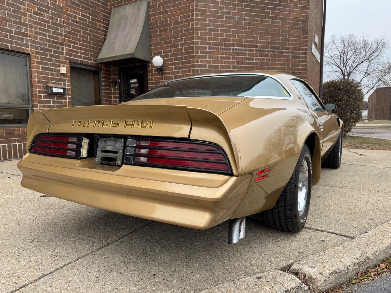
[[[29,54],[33,111],[72,105],[70,62],[99,66],[103,104],[119,103],[119,86],[111,85],[118,67],[97,64],[96,58],[113,7],[135,1],[0,0],[0,48]],[[165,71],[158,76],[148,64],[148,87],[197,74],[281,70],[318,90],[319,63],[310,45],[321,34],[321,3],[149,0],[151,59],[160,55]],[[48,96],[46,83],[66,86],[67,95]],[[0,129],[0,159],[21,157],[23,142],[25,130]]]

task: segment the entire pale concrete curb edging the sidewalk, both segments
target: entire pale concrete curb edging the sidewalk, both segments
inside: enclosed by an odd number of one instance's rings
[[[292,264],[289,273],[272,270],[200,293],[322,292],[344,284],[358,272],[375,266],[390,255],[391,221],[341,245],[303,257]]]

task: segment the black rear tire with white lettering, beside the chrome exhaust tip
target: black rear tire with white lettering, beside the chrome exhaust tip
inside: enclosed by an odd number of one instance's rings
[[[308,167],[308,188],[307,201],[305,208],[299,215],[298,208],[298,192],[299,192],[299,170],[304,164],[303,160],[307,161]],[[282,191],[276,204],[272,209],[261,212],[261,217],[264,223],[274,229],[283,230],[285,232],[299,232],[304,228],[307,222],[308,209],[311,199],[311,185],[312,185],[312,165],[311,154],[307,145],[304,145],[301,150],[299,160],[294,168],[293,174],[287,186]]]

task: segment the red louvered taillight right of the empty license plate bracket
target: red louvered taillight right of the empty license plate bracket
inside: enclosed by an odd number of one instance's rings
[[[232,173],[222,148],[200,141],[129,138],[126,141],[124,164]]]

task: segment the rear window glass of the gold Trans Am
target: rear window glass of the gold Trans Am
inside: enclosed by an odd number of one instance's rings
[[[262,75],[220,75],[167,82],[133,100],[193,96],[291,98],[277,80]]]

